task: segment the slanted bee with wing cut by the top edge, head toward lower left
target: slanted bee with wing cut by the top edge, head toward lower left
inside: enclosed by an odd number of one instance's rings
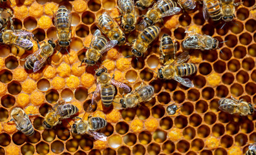
[[[152,8],[149,8],[142,24],[144,24],[145,21],[147,26],[154,25],[162,21],[162,17],[175,15],[180,12],[180,10],[181,8],[178,8],[173,0],[158,0]]]

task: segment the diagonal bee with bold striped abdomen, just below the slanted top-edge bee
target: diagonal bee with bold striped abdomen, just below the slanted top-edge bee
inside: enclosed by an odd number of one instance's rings
[[[131,52],[136,57],[142,57],[146,52],[149,44],[158,37],[160,28],[158,26],[149,26],[142,31],[137,39],[133,41],[133,47]]]

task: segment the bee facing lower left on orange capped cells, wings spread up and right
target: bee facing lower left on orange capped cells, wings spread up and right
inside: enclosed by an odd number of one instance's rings
[[[81,61],[81,65],[82,63],[90,66],[95,65],[101,55],[116,46],[117,43],[117,40],[107,42],[107,39],[104,36],[101,36],[100,30],[96,30],[92,36],[92,41],[85,54],[85,58]]]

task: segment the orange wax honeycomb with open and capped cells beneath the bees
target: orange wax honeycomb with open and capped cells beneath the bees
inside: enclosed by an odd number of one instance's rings
[[[95,141],[88,135],[72,135],[65,121],[50,130],[43,129],[41,124],[47,111],[61,98],[76,105],[80,109],[79,116],[83,116],[91,103],[91,92],[96,88],[94,68],[89,67],[85,72],[85,66],[78,67],[86,52],[83,45],[89,46],[97,29],[96,19],[104,10],[108,10],[112,17],[120,16],[115,7],[117,1],[11,2],[15,28],[32,32],[39,41],[57,40],[53,12],[61,5],[66,6],[72,13],[72,43],[68,49],[70,56],[65,50],[58,55],[56,51],[51,64],[36,73],[25,71],[25,62],[19,61],[36,49],[16,54],[14,48],[1,45],[0,154],[226,155],[244,154],[250,143],[256,141],[256,114],[240,117],[218,108],[219,99],[230,96],[256,103],[256,12],[251,10],[255,0],[244,0],[237,7],[235,21],[223,28],[223,22],[204,21],[200,3],[191,12],[164,18],[160,36],[167,33],[175,38],[178,52],[182,52],[180,43],[186,37],[186,30],[226,41],[220,44],[223,54],[219,50],[191,52],[189,62],[198,67],[198,72],[189,76],[195,84],[193,88],[174,80],[155,79],[152,70],[161,66],[159,39],[153,42],[143,59],[123,59],[131,55],[128,46],[107,52],[99,65],[115,74],[116,80],[131,88],[142,81],[155,87],[154,98],[137,108],[105,110],[99,101],[93,116],[107,120],[107,127],[100,130],[107,136],[107,142]],[[131,42],[135,37],[136,32],[133,32],[127,40]],[[116,96],[121,94],[123,90],[118,88]],[[172,103],[182,107],[175,115],[168,116],[165,108]],[[27,114],[38,114],[30,118],[35,128],[34,136],[26,137],[14,123],[5,123],[14,107],[23,108]],[[68,121],[74,123],[72,119]]]

